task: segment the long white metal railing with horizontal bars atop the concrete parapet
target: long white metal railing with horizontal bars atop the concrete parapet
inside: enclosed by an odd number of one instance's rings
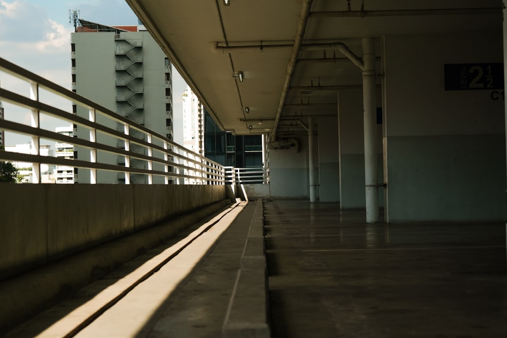
[[[19,95],[7,89],[0,88],[0,100],[8,102],[31,111],[31,126],[8,120],[0,120],[0,130],[10,131],[17,134],[31,136],[32,154],[10,153],[0,150],[0,161],[17,161],[33,163],[33,183],[41,182],[42,164],[54,164],[74,168],[90,170],[90,183],[97,182],[97,170],[113,171],[124,174],[125,183],[130,184],[130,174],[143,174],[148,176],[148,184],[153,184],[153,176],[164,177],[165,184],[174,182],[176,184],[225,184],[225,169],[222,165],[213,162],[197,153],[193,153],[163,135],[134,123],[133,121],[116,114],[114,111],[69,91],[51,81],[48,81],[37,74],[34,74],[22,67],[19,67],[3,58],[0,58],[0,71],[4,71],[27,83],[30,90],[30,97]],[[71,101],[73,104],[81,105],[89,109],[89,118],[85,119],[71,112],[61,110],[39,100],[39,89],[47,90],[57,96]],[[69,104],[70,106],[70,104]],[[79,125],[90,131],[89,140],[77,137],[69,137],[40,127],[39,118],[41,112],[67,123]],[[123,125],[123,132],[117,128],[112,129],[96,122],[96,115],[101,115],[109,121],[119,122]],[[146,140],[130,135],[130,130],[146,135]],[[100,143],[97,140],[97,132],[107,136],[121,139],[124,148],[116,144]],[[49,139],[59,143],[73,144],[89,149],[90,160],[71,160],[61,157],[46,157],[39,153],[40,139]],[[136,151],[130,151],[130,145],[136,146]],[[139,148],[143,151],[139,151]],[[114,163],[117,157],[125,159],[124,165],[97,162],[97,152],[112,154]],[[130,166],[131,159],[146,161],[147,168],[135,168]],[[159,170],[153,169],[158,164]]]

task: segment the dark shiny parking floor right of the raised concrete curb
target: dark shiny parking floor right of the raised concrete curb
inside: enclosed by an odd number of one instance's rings
[[[272,337],[506,337],[504,223],[265,201]]]

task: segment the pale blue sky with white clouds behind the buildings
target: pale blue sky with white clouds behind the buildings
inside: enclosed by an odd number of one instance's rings
[[[137,25],[137,17],[125,0],[0,0],[0,57],[64,88],[71,88],[69,10],[80,18],[105,25]],[[174,140],[183,143],[182,94],[187,88],[172,69]],[[0,87],[28,96],[26,83],[0,71]],[[69,111],[70,102],[41,93],[41,100]],[[1,99],[0,99],[1,100]],[[5,118],[29,124],[29,113],[3,103]],[[41,117],[41,127],[54,131],[68,123]],[[6,145],[26,143],[29,138],[6,133]],[[54,142],[53,142],[54,143]]]

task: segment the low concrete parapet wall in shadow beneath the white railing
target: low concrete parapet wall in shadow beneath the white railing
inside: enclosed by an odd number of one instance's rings
[[[0,277],[227,198],[226,185],[2,184]]]

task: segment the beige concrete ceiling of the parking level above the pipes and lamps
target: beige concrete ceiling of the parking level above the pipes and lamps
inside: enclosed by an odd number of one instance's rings
[[[336,114],[337,89],[360,86],[361,70],[333,43],[360,58],[362,37],[502,29],[500,0],[364,0],[363,12],[360,0],[350,1],[350,11],[346,0],[126,2],[218,124],[235,134],[272,133],[276,125],[279,136],[304,131],[296,116]],[[302,46],[293,54],[300,22]],[[220,48],[245,46],[255,47]],[[376,48],[380,58],[380,39]]]

